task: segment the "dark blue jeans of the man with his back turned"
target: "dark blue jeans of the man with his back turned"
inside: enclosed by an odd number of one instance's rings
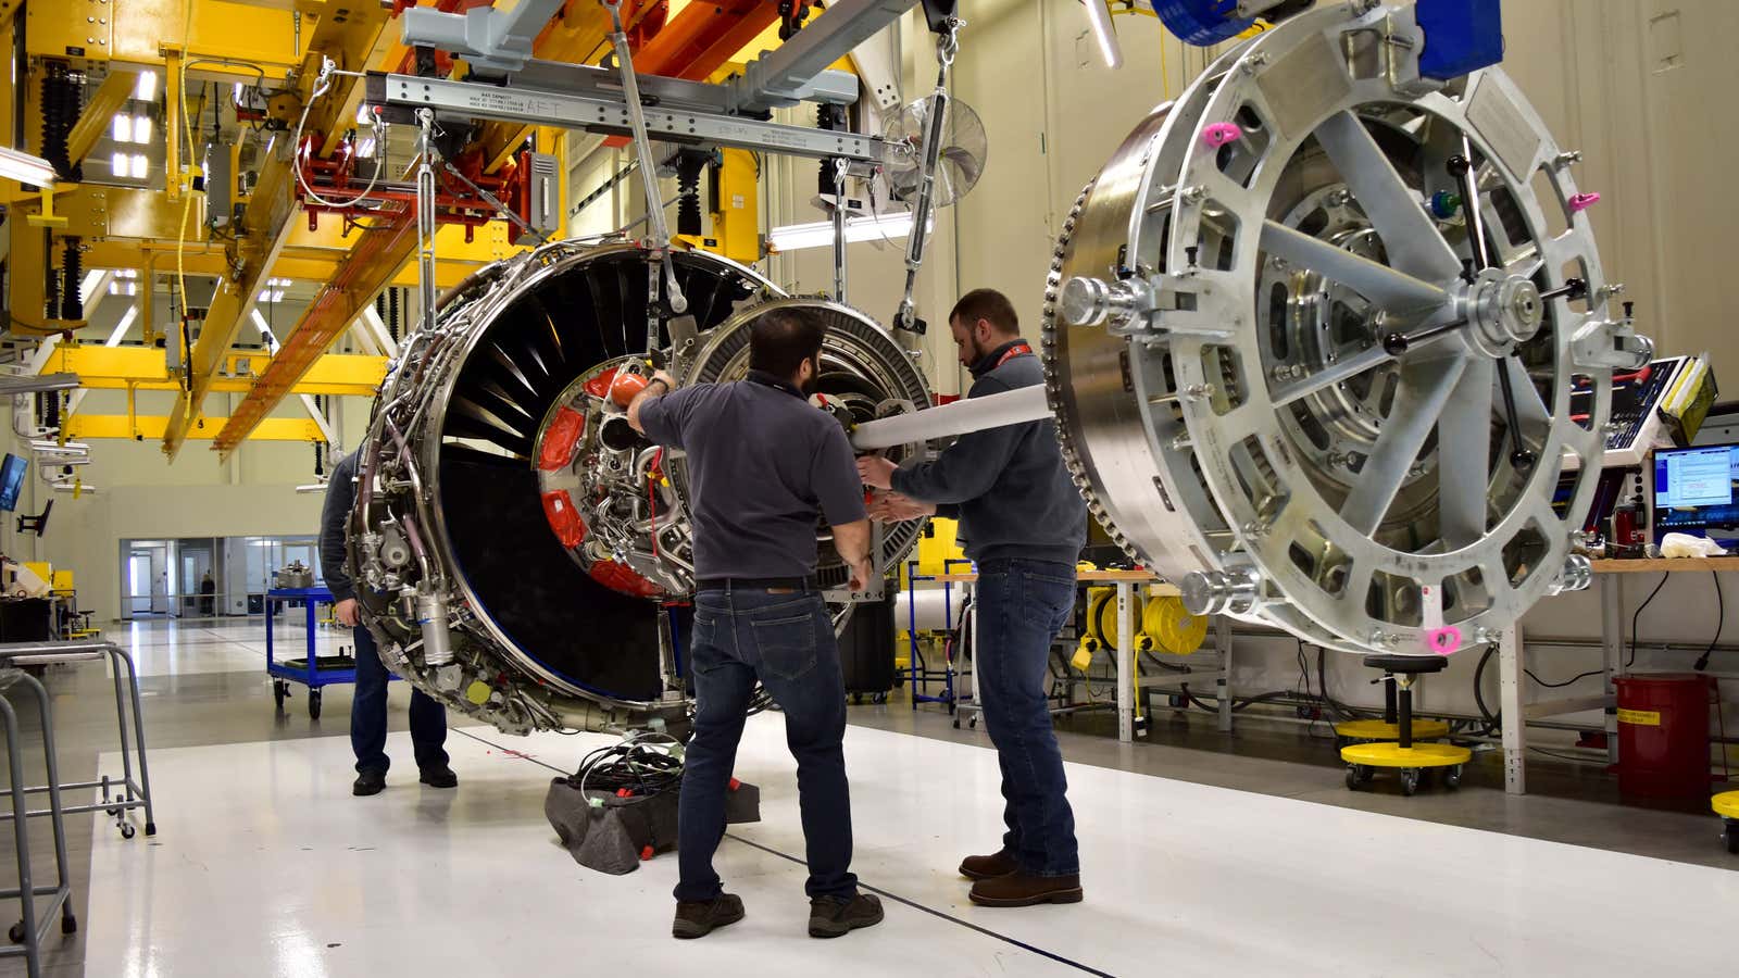
[[[809,858],[809,896],[856,896],[852,800],[845,783],[845,680],[833,620],[817,592],[704,590],[694,595],[694,738],[683,755],[676,900],[723,891],[713,853],[725,790],[758,679],[784,712]]]

